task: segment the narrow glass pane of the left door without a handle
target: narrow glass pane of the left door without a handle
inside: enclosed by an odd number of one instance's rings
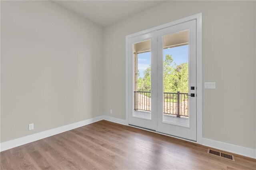
[[[151,41],[134,43],[134,113],[151,119]]]

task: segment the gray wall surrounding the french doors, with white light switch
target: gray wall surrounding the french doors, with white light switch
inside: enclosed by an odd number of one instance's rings
[[[203,137],[255,149],[255,3],[168,1],[104,28],[105,115],[126,119],[125,36],[202,12]]]

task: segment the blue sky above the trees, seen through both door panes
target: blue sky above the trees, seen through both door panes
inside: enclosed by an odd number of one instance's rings
[[[149,67],[151,63],[150,54],[151,52],[138,54],[138,69],[140,71],[140,77],[144,77],[143,72],[146,68]],[[187,63],[188,62],[188,45],[164,49],[164,59],[166,54],[172,55],[173,61],[177,65],[181,63]]]

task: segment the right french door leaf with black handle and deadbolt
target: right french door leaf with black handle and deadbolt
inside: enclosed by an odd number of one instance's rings
[[[196,20],[159,30],[157,32],[157,38],[157,131],[196,141]],[[188,55],[184,57],[185,61],[187,58],[188,75],[182,75],[184,76],[183,79],[188,79],[188,81],[181,82],[187,83],[187,85],[183,84],[183,87],[188,89],[180,88],[177,91],[168,91],[168,88],[165,87],[168,86],[168,81],[164,82],[164,67],[166,67],[166,63],[164,63],[164,57],[166,57],[164,56],[164,48],[166,48],[165,44],[168,43],[168,41],[173,41],[174,46],[176,47],[179,45],[179,47],[185,46],[184,44],[187,46],[187,48],[185,47],[184,49],[180,49],[179,52],[188,53]],[[180,66],[186,67],[186,62],[183,65],[180,64]]]

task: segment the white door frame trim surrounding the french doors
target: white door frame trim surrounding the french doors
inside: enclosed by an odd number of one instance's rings
[[[196,98],[196,143],[202,144],[202,13],[195,14],[192,16],[188,16],[186,18],[182,18],[180,20],[176,20],[173,22],[169,22],[167,24],[163,24],[161,26],[157,26],[154,28],[150,28],[148,30],[144,30],[141,32],[137,32],[131,35],[126,36],[126,125],[128,125],[129,122],[129,106],[131,105],[132,96],[131,93],[129,93],[130,89],[130,64],[129,63],[129,51],[128,51],[128,38],[146,34],[149,32],[161,30],[163,28],[167,28],[170,26],[174,26],[177,24],[181,24],[184,22],[188,22],[191,20],[196,20],[196,85],[197,85],[197,98]],[[180,138],[182,139],[182,138]],[[182,139],[184,140],[184,139]]]

